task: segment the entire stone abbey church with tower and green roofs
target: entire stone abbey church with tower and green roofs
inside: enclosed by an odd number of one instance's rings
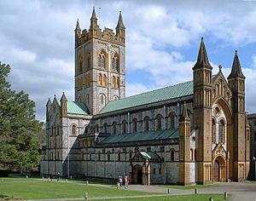
[[[122,14],[115,32],[102,31],[93,9],[89,30],[78,20],[74,37],[75,100],[63,93],[46,104],[41,175],[127,175],[145,185],[247,180],[250,129],[237,52],[228,78],[221,66],[212,75],[202,38],[192,81],[125,97]]]

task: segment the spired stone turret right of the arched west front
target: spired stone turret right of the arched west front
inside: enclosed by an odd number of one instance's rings
[[[246,136],[246,113],[245,113],[245,77],[241,72],[240,61],[237,51],[234,57],[232,69],[228,77],[229,87],[232,93],[233,109],[233,147],[230,158],[233,160],[233,179],[243,181],[247,178],[249,154],[248,140]],[[247,161],[247,162],[246,162]]]

